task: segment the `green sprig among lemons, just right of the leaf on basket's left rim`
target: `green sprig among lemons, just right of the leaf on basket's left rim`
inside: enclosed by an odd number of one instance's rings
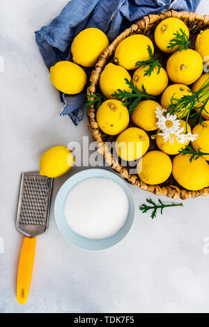
[[[123,101],[124,106],[128,107],[129,113],[132,113],[133,109],[137,104],[141,101],[141,99],[154,99],[153,95],[149,95],[146,93],[144,85],[141,86],[143,92],[139,92],[137,86],[134,86],[132,81],[125,79],[125,83],[132,89],[132,93],[126,90],[118,89],[117,92],[115,91],[111,96]]]

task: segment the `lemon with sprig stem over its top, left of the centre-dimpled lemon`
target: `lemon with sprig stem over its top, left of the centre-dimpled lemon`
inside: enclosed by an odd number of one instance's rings
[[[158,68],[155,67],[150,76],[144,76],[146,70],[147,67],[139,67],[134,72],[132,79],[134,86],[137,86],[139,92],[143,92],[142,85],[144,85],[146,93],[155,96],[160,95],[169,83],[167,72],[161,67],[158,74]]]

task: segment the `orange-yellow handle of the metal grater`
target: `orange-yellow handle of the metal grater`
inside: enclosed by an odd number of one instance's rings
[[[33,262],[36,250],[36,238],[24,237],[17,273],[17,302],[24,304],[29,296]]]

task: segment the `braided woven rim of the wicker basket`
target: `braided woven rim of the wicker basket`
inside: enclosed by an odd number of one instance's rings
[[[120,43],[124,38],[127,36],[132,35],[134,33],[141,33],[141,31],[147,30],[149,26],[152,26],[158,21],[162,21],[169,17],[176,17],[183,19],[186,24],[195,24],[196,26],[203,27],[206,29],[209,27],[209,15],[201,15],[198,13],[189,13],[187,11],[176,11],[176,10],[169,10],[164,11],[160,14],[150,14],[147,16],[142,17],[139,19],[138,22],[132,24],[128,29],[125,29],[118,37],[111,42],[111,44],[104,49],[98,63],[96,63],[94,70],[91,73],[91,77],[89,79],[90,86],[88,86],[88,94],[95,93],[96,86],[98,84],[100,73],[102,72],[103,67],[106,65],[109,57],[113,54],[114,50],[116,49],[118,43]],[[149,185],[142,182],[139,179],[138,175],[132,175],[128,172],[127,168],[121,166],[121,164],[112,156],[109,148],[102,140],[102,134],[98,127],[98,122],[95,118],[95,111],[96,109],[92,105],[87,109],[87,116],[88,116],[88,128],[93,135],[93,138],[96,142],[98,142],[98,152],[103,155],[105,161],[109,163],[111,168],[115,170],[121,177],[123,177],[127,182],[132,185],[139,186],[144,191],[149,191],[150,193],[154,193],[157,196],[167,196],[168,198],[185,200],[187,198],[196,198],[198,196],[208,196],[209,195],[209,186],[201,189],[199,191],[189,191],[187,189],[180,188],[176,185]]]

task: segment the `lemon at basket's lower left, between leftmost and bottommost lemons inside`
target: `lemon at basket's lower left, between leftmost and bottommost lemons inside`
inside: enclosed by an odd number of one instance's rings
[[[150,145],[148,134],[138,127],[122,131],[116,139],[116,152],[125,161],[134,161],[142,157]]]

